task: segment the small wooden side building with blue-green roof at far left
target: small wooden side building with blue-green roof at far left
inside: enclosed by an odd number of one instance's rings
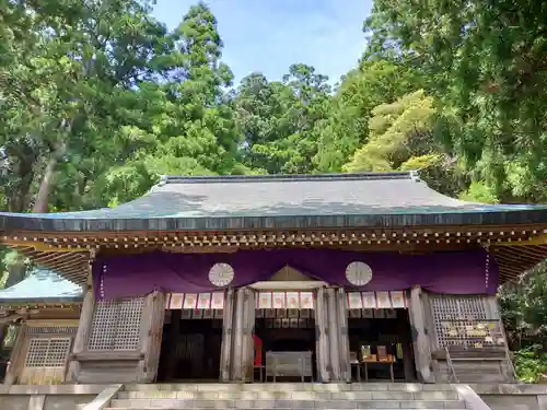
[[[83,295],[82,286],[39,268],[0,290],[0,380],[8,385],[65,380]]]

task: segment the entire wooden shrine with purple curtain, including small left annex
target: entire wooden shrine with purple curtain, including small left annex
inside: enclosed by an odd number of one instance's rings
[[[164,177],[114,209],[0,213],[4,383],[512,382],[496,297],[547,207],[414,172]]]

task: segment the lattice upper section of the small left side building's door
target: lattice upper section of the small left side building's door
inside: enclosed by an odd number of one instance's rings
[[[25,367],[65,367],[70,338],[33,338],[28,343]]]

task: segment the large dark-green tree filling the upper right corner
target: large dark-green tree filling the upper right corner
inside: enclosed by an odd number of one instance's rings
[[[538,1],[376,0],[365,22],[371,52],[423,73],[472,178],[505,202],[545,199],[546,19]]]

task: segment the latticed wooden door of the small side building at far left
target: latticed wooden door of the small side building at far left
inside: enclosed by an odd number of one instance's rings
[[[32,338],[20,384],[56,385],[65,382],[72,338]]]

